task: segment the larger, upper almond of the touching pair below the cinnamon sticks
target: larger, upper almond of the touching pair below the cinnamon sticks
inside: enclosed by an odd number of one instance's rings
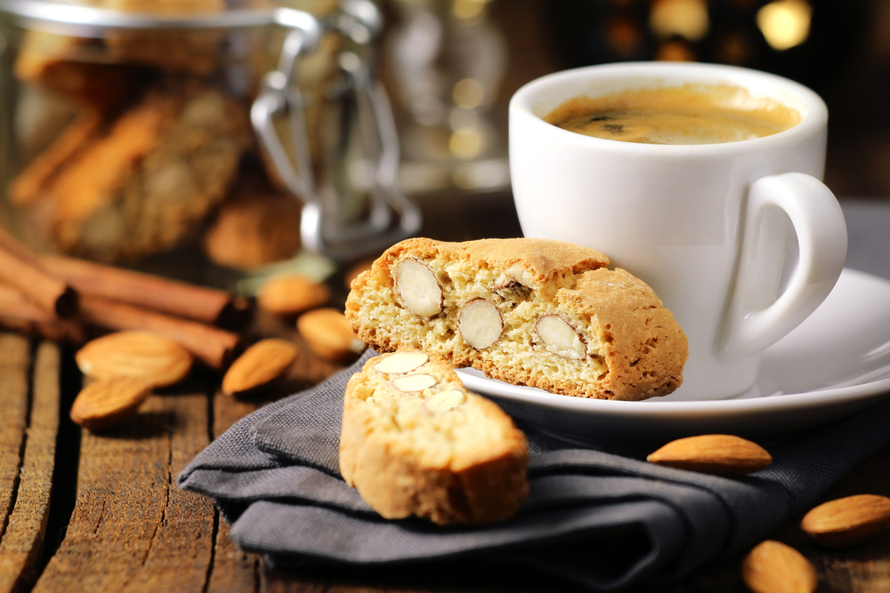
[[[116,332],[87,342],[75,355],[81,373],[94,379],[134,377],[154,387],[182,381],[191,355],[179,342],[157,333]]]

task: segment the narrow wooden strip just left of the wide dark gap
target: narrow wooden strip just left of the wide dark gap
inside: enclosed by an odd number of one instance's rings
[[[0,593],[26,590],[36,580],[53,489],[59,430],[61,356],[58,346],[37,349],[28,438],[15,507],[0,541]]]

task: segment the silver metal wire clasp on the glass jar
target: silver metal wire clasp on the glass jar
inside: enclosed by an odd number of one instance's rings
[[[250,116],[260,144],[280,180],[303,202],[300,235],[303,246],[334,260],[351,260],[383,251],[421,227],[421,213],[397,185],[399,139],[392,111],[382,85],[370,73],[370,52],[380,29],[380,14],[368,0],[344,0],[336,12],[317,20],[307,12],[279,8],[275,22],[289,28],[279,56],[278,68],[263,78],[262,88]],[[350,42],[338,55],[342,88],[352,93],[355,117],[368,174],[367,214],[344,221],[336,208],[326,207],[312,172],[303,93],[295,84],[300,60],[313,51],[326,32],[336,32]],[[353,48],[366,50],[354,51]],[[287,117],[293,159],[273,124]],[[339,155],[345,157],[345,155]],[[393,214],[398,216],[393,220]]]

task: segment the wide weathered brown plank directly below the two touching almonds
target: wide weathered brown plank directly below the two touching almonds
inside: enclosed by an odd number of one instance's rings
[[[77,502],[35,591],[202,591],[212,502],[174,485],[208,442],[203,389],[155,394],[134,421],[83,431]]]

